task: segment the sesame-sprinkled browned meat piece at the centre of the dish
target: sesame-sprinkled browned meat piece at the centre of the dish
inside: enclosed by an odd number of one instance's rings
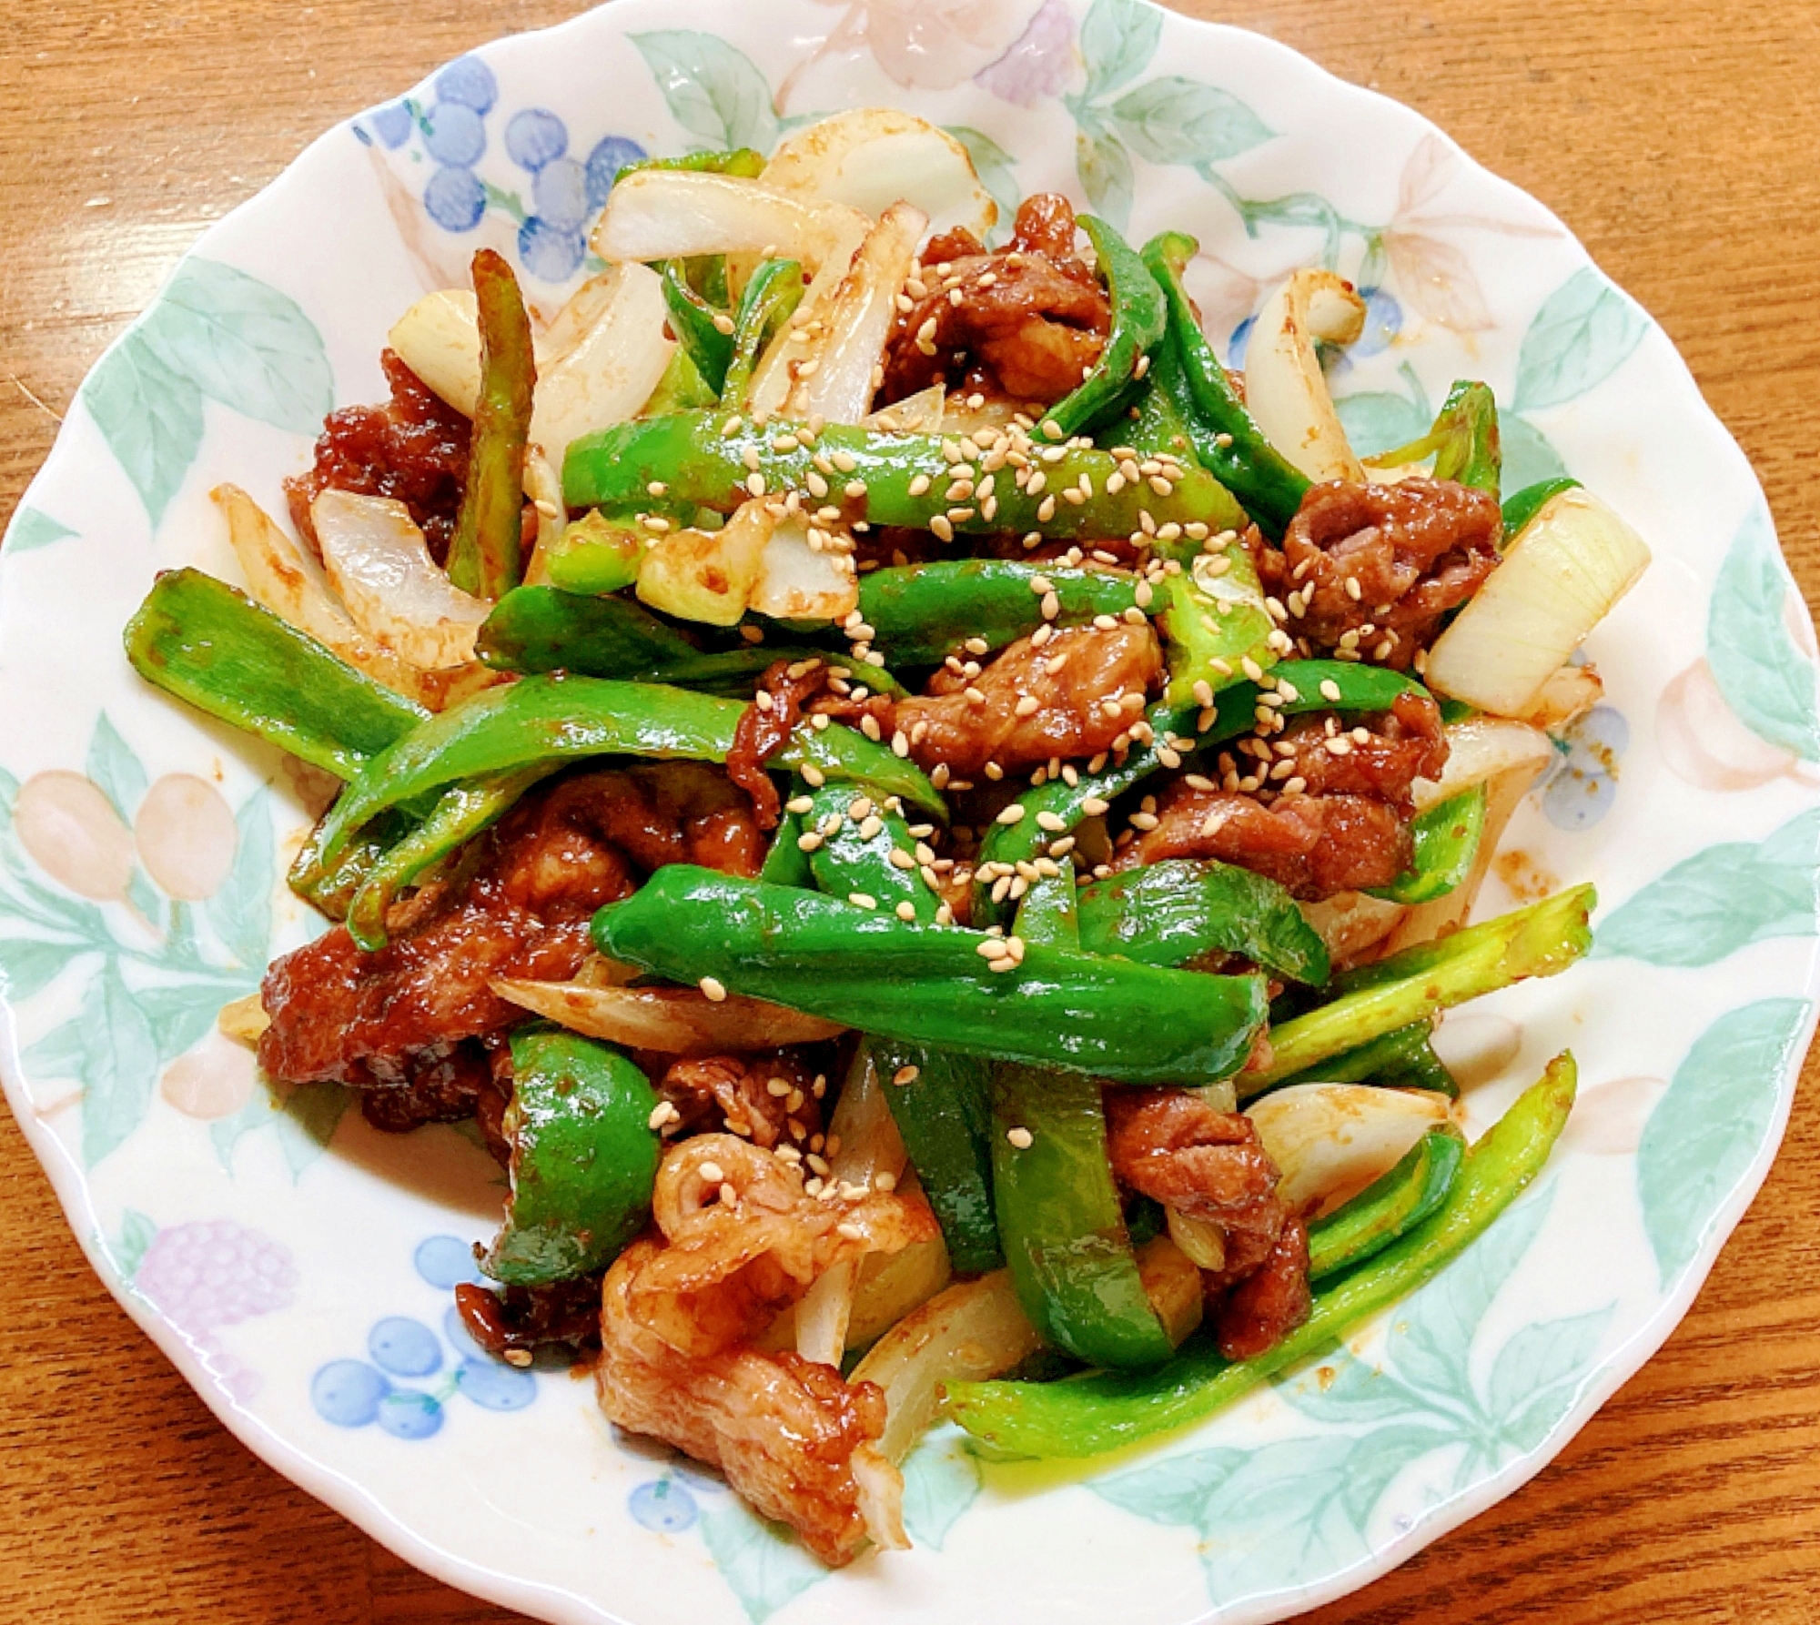
[[[894,721],[923,768],[946,762],[968,777],[997,762],[1008,773],[1110,750],[1143,717],[1161,670],[1148,624],[1070,626],[1043,644],[1019,639],[977,677],[937,673],[937,691],[899,701]]]

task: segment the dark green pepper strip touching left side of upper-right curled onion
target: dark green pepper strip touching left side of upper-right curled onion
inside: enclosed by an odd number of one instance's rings
[[[1165,231],[1143,247],[1143,262],[1168,304],[1168,355],[1159,360],[1159,386],[1188,424],[1196,459],[1259,526],[1281,535],[1309,491],[1309,477],[1265,439],[1194,318],[1181,277],[1199,249],[1181,231]]]

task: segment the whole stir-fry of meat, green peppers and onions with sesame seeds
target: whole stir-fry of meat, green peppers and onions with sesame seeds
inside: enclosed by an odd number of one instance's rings
[[[224,1028],[475,1119],[473,1336],[846,1563],[934,1421],[1205,1418],[1536,1176],[1571,1057],[1467,1145],[1431,1035],[1589,946],[1591,886],[1465,921],[1649,555],[1500,491],[1478,382],[1361,462],[1334,273],[1239,377],[1192,238],[1001,224],[906,115],[632,166],[592,242],[561,309],[482,249],[406,311],[295,539],[220,488],[244,590],[127,651],[340,781]]]

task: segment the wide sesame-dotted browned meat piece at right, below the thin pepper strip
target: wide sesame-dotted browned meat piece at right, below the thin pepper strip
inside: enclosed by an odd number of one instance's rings
[[[1127,846],[1117,866],[1210,857],[1314,901],[1389,886],[1409,868],[1410,786],[1440,777],[1447,735],[1434,701],[1403,695],[1350,730],[1330,715],[1303,717],[1272,739],[1241,741],[1221,764],[1221,790],[1172,782],[1156,828]]]

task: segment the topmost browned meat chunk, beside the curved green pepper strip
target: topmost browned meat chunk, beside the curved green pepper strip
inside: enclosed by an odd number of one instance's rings
[[[999,391],[1046,404],[1099,360],[1110,309],[1099,280],[1076,258],[1067,198],[1025,198],[999,253],[956,231],[928,246],[923,266],[928,295],[892,328],[881,400],[937,380],[985,384],[985,371]]]

